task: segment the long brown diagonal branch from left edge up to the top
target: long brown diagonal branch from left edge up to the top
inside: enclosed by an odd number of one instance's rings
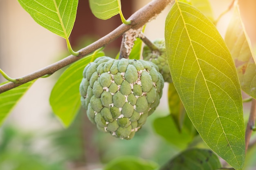
[[[16,84],[14,84],[13,82],[3,84],[2,86],[0,86],[0,93],[8,91],[12,88],[25,84],[27,82],[30,82],[34,79],[40,78],[44,75],[52,75],[59,69],[81,59],[85,55],[92,53],[93,51],[99,49],[102,46],[108,45],[110,42],[119,38],[129,29],[139,29],[141,26],[149,22],[152,18],[155,18],[156,15],[158,15],[162,10],[164,10],[164,8],[170,3],[173,4],[174,0],[153,0],[149,2],[144,7],[142,7],[141,9],[136,11],[134,14],[132,14],[130,18],[128,18],[128,20],[131,20],[130,25],[121,24],[114,31],[110,32],[108,35],[86,46],[85,48],[79,50],[78,56],[70,55],[64,58],[63,60],[60,60],[54,64],[46,66],[45,68],[41,68],[40,70],[35,71],[34,73],[25,75],[24,77],[21,77],[22,80],[20,80],[20,82]]]

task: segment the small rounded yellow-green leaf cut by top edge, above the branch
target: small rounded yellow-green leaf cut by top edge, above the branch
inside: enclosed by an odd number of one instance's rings
[[[89,4],[93,15],[101,20],[119,14],[117,0],[89,0]]]

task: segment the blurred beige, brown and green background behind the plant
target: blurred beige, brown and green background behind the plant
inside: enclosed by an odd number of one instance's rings
[[[124,16],[143,7],[150,0],[122,0]],[[225,11],[232,0],[210,0],[215,18]],[[241,0],[240,11],[252,46],[256,43],[256,1]],[[164,38],[164,22],[170,7],[156,20],[148,23],[145,35],[150,40]],[[232,11],[225,14],[217,27],[222,36]],[[94,42],[121,24],[119,15],[109,20],[95,18],[88,0],[80,0],[76,22],[70,36],[74,50]],[[105,49],[114,57],[121,38]],[[10,77],[21,77],[52,64],[68,55],[65,40],[44,29],[22,9],[17,0],[0,0],[0,68]],[[168,115],[167,93],[163,93],[156,113],[131,141],[115,139],[96,130],[85,110],[64,129],[53,115],[49,96],[63,70],[48,78],[38,79],[22,97],[0,127],[1,170],[92,170],[121,155],[136,155],[164,163],[183,148],[169,144],[152,128],[156,117]],[[0,82],[5,80],[0,76]],[[167,91],[166,85],[164,90]],[[245,107],[248,112],[250,104]],[[253,166],[253,165],[252,165]]]

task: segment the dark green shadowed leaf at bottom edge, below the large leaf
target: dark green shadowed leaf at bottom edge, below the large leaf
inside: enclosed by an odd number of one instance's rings
[[[190,149],[180,153],[159,170],[216,170],[221,167],[218,157],[206,149]]]

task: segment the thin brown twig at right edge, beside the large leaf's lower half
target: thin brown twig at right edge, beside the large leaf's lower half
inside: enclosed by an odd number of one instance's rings
[[[256,99],[252,99],[252,106],[251,111],[249,115],[249,120],[247,123],[246,131],[245,131],[245,153],[247,152],[250,138],[252,135],[252,128],[254,128],[255,125],[255,119],[256,119]]]

